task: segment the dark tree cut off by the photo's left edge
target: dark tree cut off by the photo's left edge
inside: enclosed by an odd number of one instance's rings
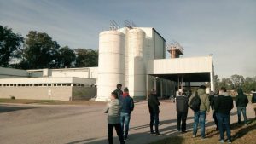
[[[0,66],[9,66],[9,61],[18,56],[16,52],[23,43],[23,37],[11,28],[0,25]]]

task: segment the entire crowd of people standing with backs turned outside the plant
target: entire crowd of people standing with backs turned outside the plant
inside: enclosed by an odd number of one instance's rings
[[[108,103],[108,142],[113,144],[113,128],[115,128],[119,141],[125,144],[128,137],[129,123],[131,119],[131,112],[134,109],[134,101],[129,95],[128,88],[125,87],[124,92],[121,90],[122,84],[117,84],[117,89],[111,93],[111,101]],[[244,117],[244,124],[247,124],[246,107],[248,104],[247,95],[244,95],[241,89],[237,90],[236,107],[238,115],[238,124],[241,124],[241,113]],[[256,92],[254,90],[252,103],[256,118]],[[148,110],[150,113],[150,134],[161,135],[159,131],[159,113],[160,101],[155,89],[151,90],[148,95]],[[201,128],[201,138],[205,139],[205,124],[206,116],[213,111],[214,123],[216,130],[219,131],[220,142],[224,142],[224,130],[228,138],[228,143],[231,143],[230,133],[230,111],[233,109],[233,99],[227,92],[227,89],[222,87],[215,94],[211,91],[210,95],[206,94],[206,87],[201,85],[190,97],[183,91],[179,92],[176,98],[177,109],[177,131],[186,133],[186,120],[188,116],[189,107],[194,111],[193,135],[197,136],[198,124]]]

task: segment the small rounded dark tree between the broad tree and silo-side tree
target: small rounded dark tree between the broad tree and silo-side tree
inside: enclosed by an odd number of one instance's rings
[[[59,66],[72,67],[73,62],[76,60],[76,55],[73,49],[70,49],[68,46],[65,46],[59,50],[59,53]]]

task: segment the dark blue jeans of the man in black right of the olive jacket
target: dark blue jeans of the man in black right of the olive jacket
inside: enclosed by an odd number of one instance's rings
[[[220,139],[224,140],[224,127],[227,132],[228,140],[231,141],[231,134],[230,134],[230,114],[223,114],[223,113],[216,113],[218,118],[218,130]]]

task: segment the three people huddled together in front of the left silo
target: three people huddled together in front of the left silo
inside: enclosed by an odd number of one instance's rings
[[[113,144],[113,128],[119,136],[120,144],[127,140],[131,112],[134,109],[134,101],[129,95],[129,89],[121,90],[122,84],[117,84],[117,89],[111,93],[111,101],[105,113],[108,113],[108,143]]]

